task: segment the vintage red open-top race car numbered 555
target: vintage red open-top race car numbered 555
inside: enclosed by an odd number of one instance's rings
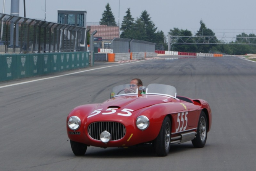
[[[192,141],[194,147],[204,147],[211,123],[206,101],[177,96],[173,86],[149,84],[131,89],[119,85],[109,100],[73,109],[66,128],[75,155],[84,155],[90,145],[152,144],[158,156],[166,156],[171,144]]]

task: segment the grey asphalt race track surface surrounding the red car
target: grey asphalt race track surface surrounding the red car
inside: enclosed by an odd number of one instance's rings
[[[171,145],[167,157],[157,157],[150,145],[91,146],[84,156],[75,156],[66,133],[68,113],[78,105],[104,102],[113,86],[133,78],[206,100],[212,128],[204,148],[190,141]],[[256,62],[235,56],[95,62],[81,70],[0,82],[0,170],[255,170],[255,88]]]

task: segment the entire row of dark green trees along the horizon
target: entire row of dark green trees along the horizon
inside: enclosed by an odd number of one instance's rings
[[[111,11],[109,3],[105,6],[106,10],[102,13],[102,18],[100,19],[100,25],[107,26],[117,26],[115,22],[115,17]],[[146,10],[141,12],[139,18],[134,19],[131,15],[130,8],[126,11],[126,16],[123,17],[123,21],[120,27],[121,34],[120,38],[129,38],[135,40],[144,40],[147,42],[163,44],[164,50],[167,50],[166,36],[162,30],[157,30],[154,22],[151,21],[151,17]],[[196,32],[195,35],[192,34],[190,30],[183,30],[174,27],[168,32],[171,36],[187,36],[187,37],[215,37],[215,33],[206,27],[206,24],[201,20],[200,29]],[[222,54],[233,54],[241,55],[246,53],[256,54],[256,45],[246,45],[246,40],[241,39],[240,37],[256,37],[255,34],[245,34],[241,33],[237,35],[236,39],[240,43],[245,43],[245,45],[238,45],[236,42],[229,42],[231,44],[225,44],[217,40],[219,43],[223,44],[173,44],[172,51],[181,51],[181,52],[192,52],[192,53],[222,53]],[[242,41],[244,40],[244,41]],[[179,42],[181,40],[177,40]],[[192,40],[188,40],[189,41]],[[201,43],[203,40],[198,39],[198,43]],[[214,40],[209,40],[210,43]],[[256,40],[255,42],[256,43]]]

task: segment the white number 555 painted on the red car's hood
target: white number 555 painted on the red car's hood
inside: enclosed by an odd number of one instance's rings
[[[115,108],[115,107],[112,107],[112,108],[108,108],[107,110],[104,110],[104,111],[110,111],[110,112],[103,112],[101,113],[103,109],[97,109],[97,110],[94,110],[91,115],[89,115],[87,118],[90,118],[90,117],[93,117],[95,115],[98,115],[98,114],[102,114],[102,115],[110,115],[110,114],[113,114],[113,113],[116,113],[118,108]],[[122,113],[117,113],[117,115],[120,115],[120,116],[125,116],[125,117],[130,117],[131,116],[131,112],[133,112],[132,109],[123,109],[121,110]]]

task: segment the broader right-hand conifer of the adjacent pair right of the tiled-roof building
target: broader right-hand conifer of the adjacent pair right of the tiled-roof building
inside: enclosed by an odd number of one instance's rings
[[[155,26],[154,22],[151,21],[151,17],[149,17],[149,14],[147,13],[146,10],[142,11],[139,19],[144,24],[144,29],[146,30],[147,36],[145,38],[145,41],[156,42],[155,32],[157,30],[157,27]]]

